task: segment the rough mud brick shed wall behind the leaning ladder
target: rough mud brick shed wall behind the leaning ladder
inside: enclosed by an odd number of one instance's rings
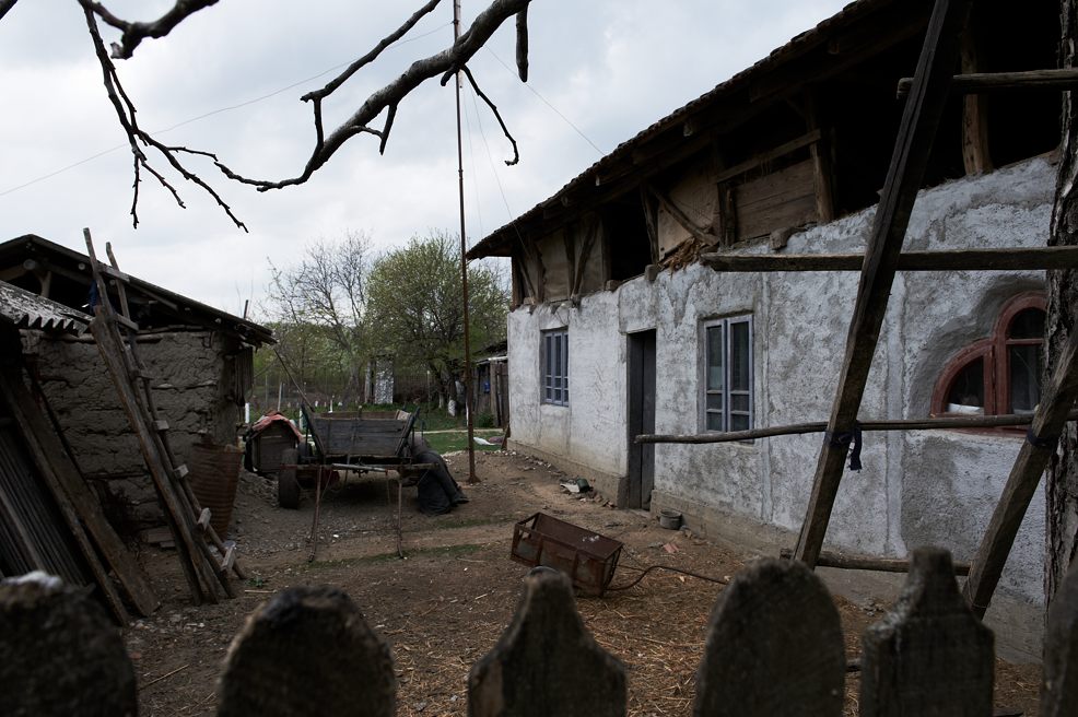
[[[173,331],[143,336],[138,346],[179,462],[203,435],[216,444],[235,443],[239,404],[250,388],[236,387],[237,354],[244,349],[235,338]],[[127,531],[160,525],[153,484],[97,346],[92,340],[38,336],[25,350],[75,462],[114,525]]]

